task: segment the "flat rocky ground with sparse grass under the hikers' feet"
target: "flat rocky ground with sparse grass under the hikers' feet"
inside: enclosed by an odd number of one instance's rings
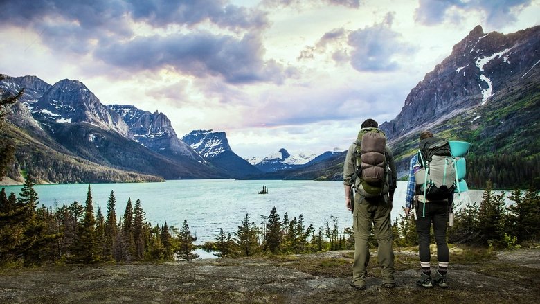
[[[64,265],[0,272],[0,303],[539,303],[540,249],[453,253],[449,289],[415,285],[418,258],[396,252],[395,289],[377,258],[349,287],[351,251],[164,264]]]

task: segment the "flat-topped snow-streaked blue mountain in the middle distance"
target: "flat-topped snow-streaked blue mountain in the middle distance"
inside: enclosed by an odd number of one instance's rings
[[[225,132],[195,130],[181,139],[233,178],[260,174],[260,170],[231,150]]]

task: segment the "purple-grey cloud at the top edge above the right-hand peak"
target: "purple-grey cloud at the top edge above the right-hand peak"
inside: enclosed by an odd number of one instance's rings
[[[489,26],[502,26],[516,21],[516,12],[530,6],[532,0],[420,0],[415,19],[425,25],[442,23],[445,19],[465,18],[466,10],[478,10]]]

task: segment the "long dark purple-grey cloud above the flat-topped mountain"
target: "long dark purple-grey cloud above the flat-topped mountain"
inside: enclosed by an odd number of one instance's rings
[[[159,70],[168,67],[186,75],[204,78],[222,76],[227,82],[281,82],[283,69],[276,62],[264,62],[260,37],[210,33],[136,37],[96,51],[96,57],[128,70]]]

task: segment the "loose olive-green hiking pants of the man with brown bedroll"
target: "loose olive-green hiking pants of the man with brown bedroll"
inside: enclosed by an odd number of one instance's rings
[[[381,199],[370,199],[370,202],[361,195],[354,196],[354,211],[352,214],[354,231],[354,262],[352,263],[352,283],[366,284],[366,274],[370,251],[368,239],[373,224],[375,238],[379,243],[377,258],[381,266],[383,283],[395,283],[394,280],[394,251],[392,247],[392,224],[390,211],[392,206]]]

